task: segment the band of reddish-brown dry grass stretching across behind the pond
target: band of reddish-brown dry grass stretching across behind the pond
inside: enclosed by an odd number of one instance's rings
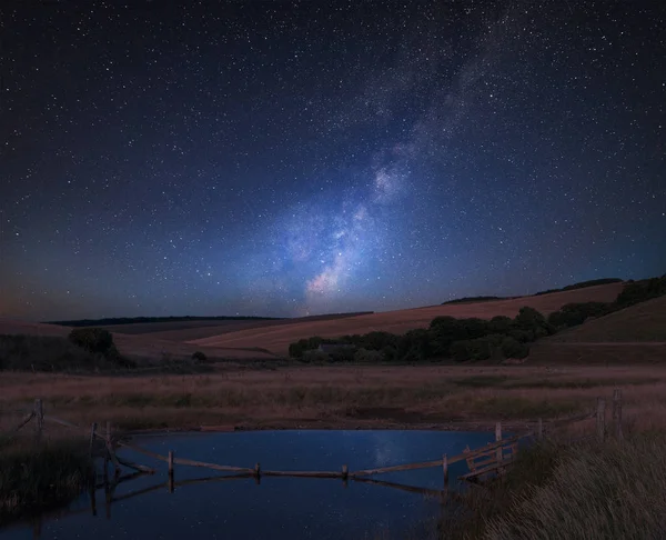
[[[624,391],[636,430],[666,427],[666,369],[528,367],[312,367],[215,374],[84,377],[4,373],[0,410],[44,400],[81,424],[125,429],[516,426],[592,410]]]

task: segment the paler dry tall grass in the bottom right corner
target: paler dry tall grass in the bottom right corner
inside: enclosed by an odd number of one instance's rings
[[[561,448],[549,478],[527,480],[482,538],[657,539],[666,537],[666,439]]]

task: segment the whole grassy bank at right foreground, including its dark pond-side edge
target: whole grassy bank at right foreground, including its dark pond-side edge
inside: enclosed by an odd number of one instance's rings
[[[472,491],[441,538],[485,540],[664,538],[666,434],[618,443],[546,443],[506,477]]]

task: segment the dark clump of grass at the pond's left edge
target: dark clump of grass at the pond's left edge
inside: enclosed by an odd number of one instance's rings
[[[51,441],[39,448],[0,448],[0,523],[63,504],[91,481],[92,462],[80,444]]]

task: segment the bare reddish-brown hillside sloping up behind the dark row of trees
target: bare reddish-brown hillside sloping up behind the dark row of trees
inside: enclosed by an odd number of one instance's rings
[[[262,347],[276,354],[286,354],[290,343],[312,336],[335,338],[372,331],[404,333],[416,328],[426,328],[435,317],[440,316],[478,317],[481,319],[492,319],[495,316],[515,317],[524,306],[548,314],[571,302],[610,302],[615,300],[623,288],[623,283],[609,283],[535,297],[404,309],[332,321],[291,322],[240,330],[190,342],[202,347]]]

